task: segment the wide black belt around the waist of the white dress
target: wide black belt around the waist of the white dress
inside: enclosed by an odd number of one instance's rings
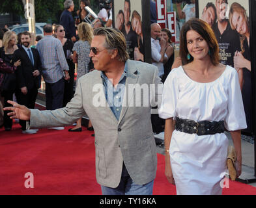
[[[225,131],[224,121],[220,122],[195,122],[189,119],[176,118],[175,129],[188,134],[215,135]]]

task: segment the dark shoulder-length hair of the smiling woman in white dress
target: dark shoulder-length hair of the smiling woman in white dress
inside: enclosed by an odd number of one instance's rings
[[[212,28],[208,23],[201,19],[192,18],[188,20],[182,27],[180,31],[180,58],[182,59],[182,64],[188,64],[193,61],[193,57],[188,60],[188,47],[187,47],[187,32],[195,31],[202,36],[202,38],[207,42],[210,51],[210,60],[212,64],[216,66],[220,62],[219,56],[219,45]]]

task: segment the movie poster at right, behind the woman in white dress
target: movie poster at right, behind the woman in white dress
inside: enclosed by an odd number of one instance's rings
[[[247,133],[253,133],[251,55],[249,47],[249,1],[200,0],[199,18],[213,29],[220,47],[220,62],[238,72]]]

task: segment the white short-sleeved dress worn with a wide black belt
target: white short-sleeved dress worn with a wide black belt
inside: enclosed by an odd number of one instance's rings
[[[215,81],[197,83],[182,66],[173,69],[164,84],[159,114],[164,119],[224,120],[228,131],[246,129],[236,70],[227,66]],[[224,133],[198,136],[173,131],[169,153],[177,194],[221,194],[227,147]]]

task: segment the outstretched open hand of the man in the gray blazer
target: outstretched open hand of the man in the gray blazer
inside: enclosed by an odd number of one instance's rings
[[[3,110],[11,110],[7,115],[10,116],[10,119],[20,119],[28,121],[30,120],[31,110],[25,107],[25,105],[19,105],[14,101],[8,100],[7,103],[12,104],[13,107],[6,107]]]

